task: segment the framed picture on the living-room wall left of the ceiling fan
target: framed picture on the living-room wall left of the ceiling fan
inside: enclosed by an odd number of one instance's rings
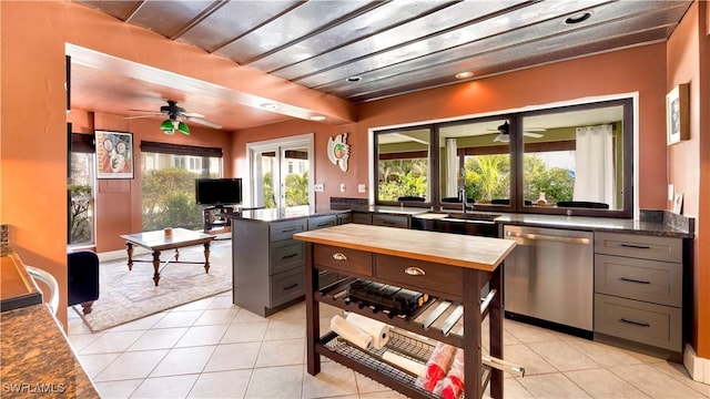
[[[97,178],[133,178],[133,134],[95,131]]]

